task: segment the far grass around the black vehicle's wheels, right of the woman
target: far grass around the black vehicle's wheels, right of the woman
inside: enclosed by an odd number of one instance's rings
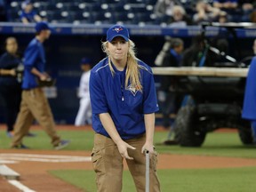
[[[159,153],[256,158],[255,146],[244,145],[236,132],[209,132],[201,148],[160,145],[166,137],[166,133],[156,132],[156,149]]]

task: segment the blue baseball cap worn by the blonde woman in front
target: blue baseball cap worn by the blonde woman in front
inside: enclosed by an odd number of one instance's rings
[[[124,40],[129,41],[129,31],[122,25],[114,25],[111,28],[108,28],[107,31],[107,41],[111,42],[116,36],[122,36]]]

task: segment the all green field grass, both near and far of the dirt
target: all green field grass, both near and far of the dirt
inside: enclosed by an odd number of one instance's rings
[[[52,149],[51,140],[44,131],[32,130],[36,138],[24,138],[24,144],[32,149]],[[67,150],[91,151],[93,145],[92,131],[58,131],[61,138],[71,140]],[[181,154],[196,156],[234,156],[256,158],[255,147],[244,146],[236,132],[211,132],[207,134],[201,148],[182,148],[180,146],[164,146],[161,143],[168,132],[156,132],[156,150],[160,154]],[[0,130],[0,148],[10,148],[11,140]],[[194,169],[194,170],[159,170],[162,191],[172,192],[251,192],[256,188],[256,167],[232,169]],[[51,171],[61,180],[66,180],[78,188],[89,192],[96,191],[93,171]],[[130,172],[124,172],[123,192],[135,191]]]

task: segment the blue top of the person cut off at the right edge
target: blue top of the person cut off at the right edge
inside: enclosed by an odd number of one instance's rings
[[[251,61],[244,92],[244,119],[256,121],[256,57]]]

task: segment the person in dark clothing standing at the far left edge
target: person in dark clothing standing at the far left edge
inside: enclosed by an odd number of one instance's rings
[[[14,37],[5,41],[6,52],[0,58],[0,94],[6,107],[7,136],[12,137],[13,125],[20,108],[21,85],[16,76],[16,68],[21,65],[17,54],[18,44]]]

